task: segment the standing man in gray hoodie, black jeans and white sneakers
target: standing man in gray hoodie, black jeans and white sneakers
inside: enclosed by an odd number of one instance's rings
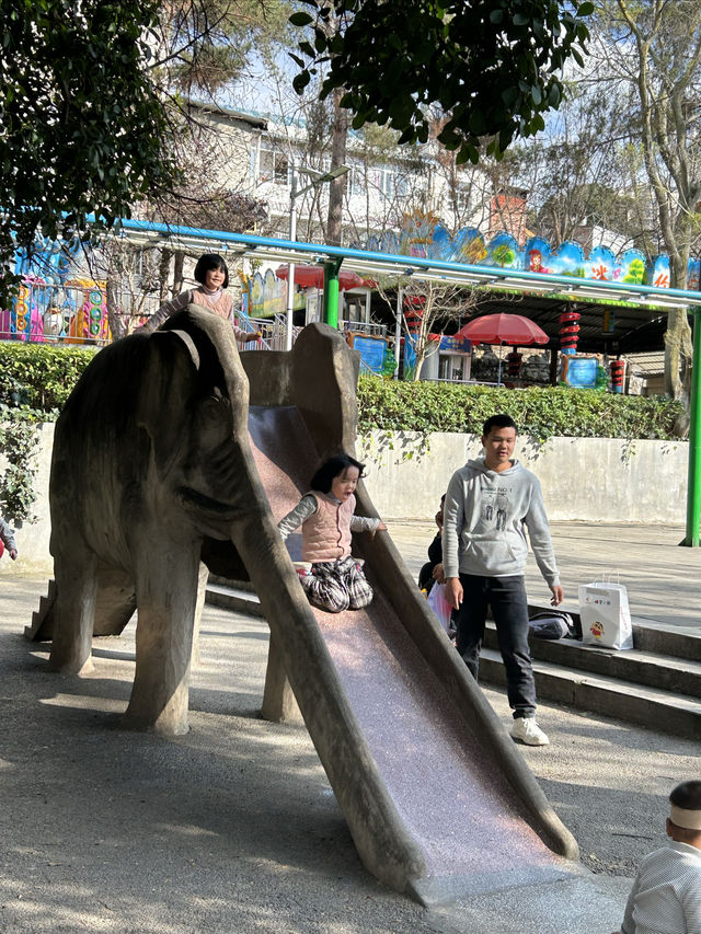
[[[484,457],[456,471],[446,494],[443,565],[447,596],[458,611],[456,646],[476,678],[491,607],[514,711],[512,736],[528,746],[547,746],[536,723],[528,648],[526,529],[553,607],[562,603],[563,591],[540,483],[513,457],[516,424],[508,415],[493,415],[483,430]]]

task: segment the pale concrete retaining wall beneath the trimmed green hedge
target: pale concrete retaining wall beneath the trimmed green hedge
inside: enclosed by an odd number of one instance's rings
[[[48,477],[54,425],[43,425],[36,474],[37,522],[15,523],[21,562],[0,561],[0,577],[20,567],[50,569]],[[391,445],[391,447],[390,447]],[[474,435],[422,436],[374,431],[358,445],[367,464],[367,488],[387,519],[427,519],[436,514],[452,472],[479,456]],[[687,495],[686,441],[621,441],[608,438],[552,438],[544,446],[520,437],[516,457],[540,478],[553,520],[673,522],[683,524]],[[0,465],[1,469],[1,465]],[[62,478],[71,483],[71,477]]]

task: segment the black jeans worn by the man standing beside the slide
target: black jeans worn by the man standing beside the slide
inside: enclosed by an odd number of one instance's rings
[[[508,703],[514,717],[536,715],[536,682],[528,648],[528,600],[522,576],[479,577],[461,574],[462,603],[456,613],[456,646],[474,678],[487,608],[496,623],[499,652],[506,668]]]

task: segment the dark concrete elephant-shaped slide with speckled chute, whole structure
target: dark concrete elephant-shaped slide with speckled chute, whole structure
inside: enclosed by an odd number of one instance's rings
[[[200,561],[248,576],[271,627],[264,713],[299,705],[371,873],[426,903],[568,876],[576,842],[390,534],[354,543],[372,603],[331,616],[307,602],[277,532],[318,463],[355,450],[358,366],[321,324],[289,353],[239,355],[230,325],[194,305],[101,350],[56,426],[56,598],[30,635],[53,638],[53,668],[80,672],[93,633],[137,607],[126,718],[181,733]],[[363,484],[357,499],[377,515]]]

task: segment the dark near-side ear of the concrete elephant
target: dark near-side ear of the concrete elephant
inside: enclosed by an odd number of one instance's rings
[[[171,330],[148,338],[137,402],[137,425],[151,439],[159,475],[165,474],[187,440],[199,397],[200,358],[192,337]]]

